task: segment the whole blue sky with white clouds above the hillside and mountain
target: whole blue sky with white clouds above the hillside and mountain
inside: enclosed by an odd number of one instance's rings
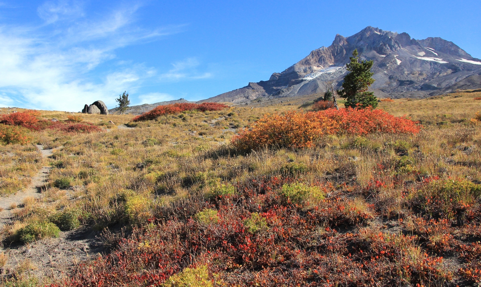
[[[267,80],[366,26],[481,58],[481,1],[0,0],[0,106],[200,100]]]

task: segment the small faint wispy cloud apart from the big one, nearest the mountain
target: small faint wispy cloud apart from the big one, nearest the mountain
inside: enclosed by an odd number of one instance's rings
[[[186,60],[178,61],[172,64],[174,68],[169,72],[160,75],[161,81],[179,81],[184,79],[207,79],[213,76],[212,73],[204,72],[199,73],[197,68],[200,62],[196,58],[188,58]]]

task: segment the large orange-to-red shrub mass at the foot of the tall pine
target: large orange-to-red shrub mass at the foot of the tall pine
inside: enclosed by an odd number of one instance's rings
[[[325,134],[362,135],[373,132],[417,133],[418,123],[394,117],[381,109],[342,108],[317,112],[288,111],[266,114],[254,126],[234,136],[232,144],[241,150],[263,146],[310,147]]]

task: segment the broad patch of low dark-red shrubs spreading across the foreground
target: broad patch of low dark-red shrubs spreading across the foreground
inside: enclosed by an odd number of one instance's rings
[[[366,218],[349,200],[332,197],[311,207],[285,200],[279,188],[292,182],[258,177],[237,183],[233,195],[158,206],[148,228],[134,229],[112,253],[51,287],[196,286],[190,281],[195,276],[166,283],[199,265],[209,271],[203,281],[226,287],[334,286],[329,280],[338,286],[440,286],[449,280],[442,258],[415,253],[415,237],[371,228],[337,232]],[[215,220],[198,219],[206,210]]]

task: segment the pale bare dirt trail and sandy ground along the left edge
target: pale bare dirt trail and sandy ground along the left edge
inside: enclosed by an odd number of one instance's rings
[[[52,155],[52,149],[44,149],[42,145],[37,145],[37,148],[43,157]],[[0,207],[4,208],[0,212],[0,229],[13,221],[13,209],[11,209],[13,204],[16,204],[17,208],[23,208],[26,197],[42,197],[41,190],[45,187],[50,171],[51,167],[42,167],[23,191],[0,197]],[[32,275],[59,280],[75,270],[78,263],[100,255],[103,248],[99,245],[96,235],[98,232],[88,227],[80,227],[76,230],[60,232],[58,238],[42,239],[25,245],[18,242],[11,244],[4,242],[5,245],[0,248],[0,252],[6,254],[8,259],[4,269],[10,271],[0,277],[9,278],[13,270],[18,270],[22,268],[21,266],[29,266],[27,272]]]

